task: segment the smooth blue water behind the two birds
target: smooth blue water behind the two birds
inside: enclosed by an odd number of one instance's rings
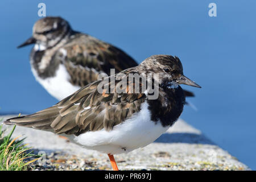
[[[1,114],[32,113],[55,104],[35,81],[28,55],[16,49],[31,36],[42,1],[0,1]],[[181,116],[256,169],[256,1],[43,1],[47,15],[60,15],[129,53],[139,63],[154,54],[180,57],[197,111]],[[217,17],[208,5],[217,5]]]

